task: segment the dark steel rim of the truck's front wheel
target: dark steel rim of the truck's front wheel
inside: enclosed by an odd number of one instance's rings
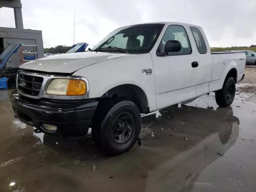
[[[129,112],[122,112],[116,116],[111,129],[111,138],[115,144],[122,145],[134,133],[134,117]]]

